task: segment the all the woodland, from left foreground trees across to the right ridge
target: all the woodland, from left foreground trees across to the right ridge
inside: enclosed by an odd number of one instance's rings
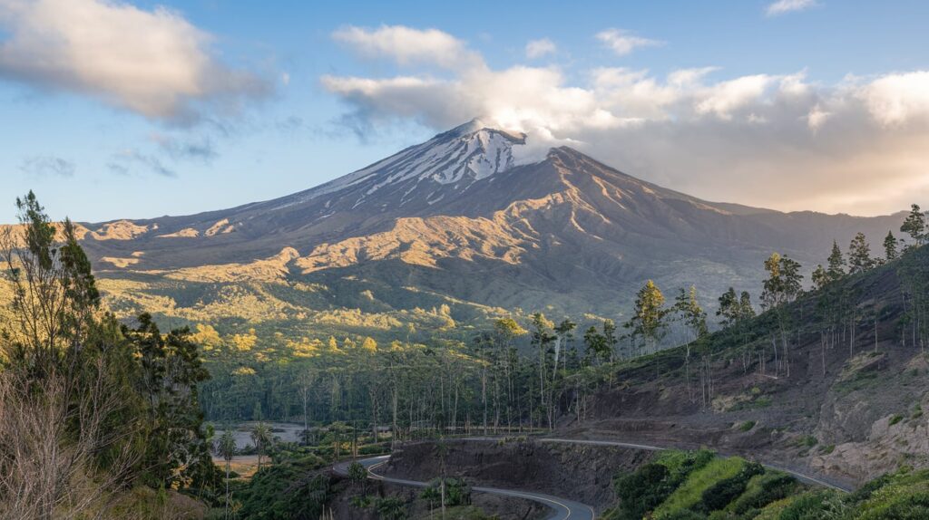
[[[876,345],[877,323],[891,306],[902,310],[902,344],[922,351],[929,340],[922,260],[929,228],[916,205],[901,228],[906,240],[888,233],[882,257],[864,235],[847,252],[833,243],[808,287],[802,266],[773,253],[762,312],[751,295],[729,289],[716,298],[718,324],[692,287],[669,299],[648,281],[619,325],[536,312],[527,323],[496,319],[466,342],[331,337],[268,346],[204,325],[164,333],[147,314],[118,321],[101,305],[72,223],[51,222],[32,193],[17,208],[21,225],[0,244],[13,295],[0,336],[0,514],[10,518],[83,518],[120,507],[157,518],[184,496],[224,507],[216,509],[222,514],[234,503],[249,517],[271,496],[286,504],[280,493],[294,482],[312,491],[305,509],[320,514],[331,489],[313,472],[340,450],[552,430],[568,417],[583,419],[600,388],[628,384],[616,379],[619,369],[660,353],[683,361],[688,398],[708,406],[720,361],[789,375],[792,348],[809,337],[822,349],[847,344],[851,352],[873,326]],[[874,270],[896,273],[896,300],[857,294],[854,282]],[[306,446],[275,446],[262,423],[271,419],[302,424]],[[207,420],[259,422],[252,430],[259,471],[235,484],[234,502],[229,461],[242,450],[229,435],[214,438]],[[273,462],[264,470],[263,455]],[[290,506],[281,507],[282,516],[269,517],[287,517]]]

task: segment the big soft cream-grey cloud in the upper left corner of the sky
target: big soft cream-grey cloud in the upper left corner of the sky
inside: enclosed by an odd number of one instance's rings
[[[268,85],[211,52],[175,11],[108,0],[0,0],[0,78],[93,95],[157,120],[235,108]],[[216,107],[214,107],[216,108]]]

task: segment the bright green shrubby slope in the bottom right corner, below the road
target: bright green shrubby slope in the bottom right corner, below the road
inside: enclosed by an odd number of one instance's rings
[[[929,470],[903,467],[845,494],[739,457],[666,451],[616,476],[604,520],[906,520],[929,517]]]

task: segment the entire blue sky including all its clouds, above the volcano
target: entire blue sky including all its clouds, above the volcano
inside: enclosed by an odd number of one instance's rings
[[[318,4],[0,0],[0,222],[279,197],[474,116],[709,199],[929,196],[925,2]]]

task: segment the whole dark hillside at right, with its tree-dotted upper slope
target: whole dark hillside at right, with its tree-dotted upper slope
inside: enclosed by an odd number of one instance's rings
[[[623,363],[562,428],[713,446],[853,484],[929,465],[927,295],[929,248],[912,249],[705,341]]]

